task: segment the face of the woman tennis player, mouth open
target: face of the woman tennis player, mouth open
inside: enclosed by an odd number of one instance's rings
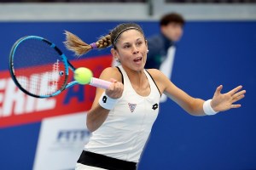
[[[113,49],[113,56],[133,71],[142,71],[147,59],[148,45],[143,34],[137,30],[128,30],[121,34]]]

